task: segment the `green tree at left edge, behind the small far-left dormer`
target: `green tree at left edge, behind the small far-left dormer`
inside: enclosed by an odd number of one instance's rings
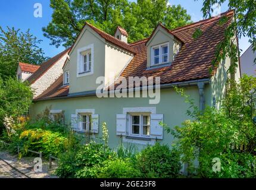
[[[0,77],[6,80],[16,75],[18,62],[41,64],[45,58],[43,50],[38,47],[38,40],[27,30],[25,33],[14,28],[7,30],[0,27]]]

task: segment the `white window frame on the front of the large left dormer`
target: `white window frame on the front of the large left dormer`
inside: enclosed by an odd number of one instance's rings
[[[89,64],[87,64],[87,70],[84,71],[83,70],[83,59],[84,59],[84,55],[85,53],[89,53],[90,52],[90,56],[91,56],[91,60],[90,60],[90,70],[89,70]],[[88,54],[89,55],[89,54]],[[89,63],[89,59],[87,59],[88,63]],[[90,44],[88,46],[82,47],[80,49],[77,50],[77,77],[83,77],[86,75],[92,75],[93,74],[93,62],[94,62],[94,45]]]

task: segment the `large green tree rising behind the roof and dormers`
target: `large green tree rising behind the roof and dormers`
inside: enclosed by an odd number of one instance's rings
[[[52,20],[43,27],[51,45],[71,46],[85,21],[114,34],[121,26],[129,33],[129,42],[148,37],[159,22],[169,29],[191,22],[180,5],[167,5],[167,0],[51,0]]]

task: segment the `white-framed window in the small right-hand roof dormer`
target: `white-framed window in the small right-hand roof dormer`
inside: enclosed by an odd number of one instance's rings
[[[152,47],[152,65],[166,64],[169,59],[168,43]]]

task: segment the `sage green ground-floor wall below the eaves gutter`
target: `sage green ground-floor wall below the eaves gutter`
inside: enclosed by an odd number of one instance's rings
[[[189,94],[199,106],[198,87],[187,87],[185,93]],[[208,99],[208,97],[207,97]],[[123,113],[123,107],[156,107],[157,113],[164,114],[164,123],[168,126],[180,125],[186,119],[186,110],[189,108],[188,103],[185,103],[184,98],[177,94],[173,89],[161,90],[161,100],[158,105],[149,105],[149,98],[98,98],[96,96],[80,97],[72,99],[48,100],[36,102],[30,109],[30,116],[35,117],[42,113],[46,107],[51,109],[64,110],[65,122],[70,124],[71,114],[75,113],[76,109],[95,109],[95,113],[99,114],[99,136],[102,136],[101,124],[107,122],[110,135],[110,147],[117,147],[120,143],[120,137],[116,135],[116,114]],[[158,140],[161,143],[171,144],[173,137],[164,131],[163,140]],[[138,145],[142,148],[143,145]]]

